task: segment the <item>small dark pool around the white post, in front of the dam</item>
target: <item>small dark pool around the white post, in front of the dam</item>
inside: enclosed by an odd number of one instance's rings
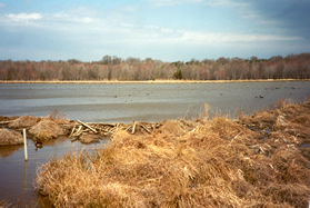
[[[28,161],[24,161],[23,146],[7,146],[0,148],[0,200],[12,206],[46,207],[47,198],[34,191],[37,169],[51,158],[61,158],[69,151],[92,151],[103,148],[108,142],[82,145],[62,138],[43,145],[36,151],[36,145],[28,139]]]

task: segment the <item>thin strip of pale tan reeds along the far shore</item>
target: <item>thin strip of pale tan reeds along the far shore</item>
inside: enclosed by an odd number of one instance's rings
[[[240,80],[0,80],[0,83],[230,83],[310,81],[310,79],[240,79]]]

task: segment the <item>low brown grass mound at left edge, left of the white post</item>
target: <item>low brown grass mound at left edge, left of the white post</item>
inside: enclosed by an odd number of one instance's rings
[[[23,143],[23,138],[20,132],[8,129],[0,129],[0,146],[21,143]]]

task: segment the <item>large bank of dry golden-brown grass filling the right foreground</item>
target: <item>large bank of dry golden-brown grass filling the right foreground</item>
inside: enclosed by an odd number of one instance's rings
[[[166,121],[117,130],[94,155],[68,153],[38,171],[56,207],[307,207],[310,101],[238,121]]]

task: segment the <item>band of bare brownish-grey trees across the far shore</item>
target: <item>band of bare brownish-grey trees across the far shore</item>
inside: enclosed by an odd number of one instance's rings
[[[150,58],[126,60],[104,56],[100,61],[0,61],[0,80],[242,80],[309,79],[310,53],[270,59],[219,58],[163,62]]]

